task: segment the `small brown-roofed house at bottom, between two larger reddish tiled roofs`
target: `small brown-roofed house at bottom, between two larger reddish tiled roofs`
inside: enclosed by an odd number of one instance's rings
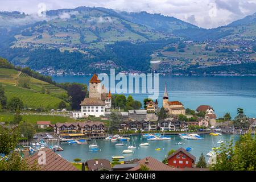
[[[111,171],[112,167],[107,159],[90,159],[85,162],[88,171]]]

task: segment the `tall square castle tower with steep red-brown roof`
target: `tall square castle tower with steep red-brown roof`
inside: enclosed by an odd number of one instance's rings
[[[89,98],[101,99],[101,81],[98,80],[96,73],[89,81]]]

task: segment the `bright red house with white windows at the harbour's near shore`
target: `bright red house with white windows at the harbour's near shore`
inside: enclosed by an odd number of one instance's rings
[[[196,157],[187,152],[184,148],[179,148],[168,156],[168,166],[176,168],[192,168],[195,166]]]

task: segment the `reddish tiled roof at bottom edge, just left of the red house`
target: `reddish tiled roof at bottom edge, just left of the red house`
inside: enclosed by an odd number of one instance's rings
[[[147,156],[146,158],[139,160],[139,165],[129,169],[128,171],[140,171],[142,166],[145,166],[150,171],[173,171],[170,166],[163,164],[159,160],[152,158],[151,156]]]

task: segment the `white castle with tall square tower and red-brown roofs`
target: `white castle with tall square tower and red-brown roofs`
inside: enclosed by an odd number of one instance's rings
[[[74,111],[73,118],[85,118],[89,115],[101,117],[105,115],[106,109],[111,108],[112,96],[107,92],[96,73],[89,81],[89,97],[81,102],[81,111]]]

